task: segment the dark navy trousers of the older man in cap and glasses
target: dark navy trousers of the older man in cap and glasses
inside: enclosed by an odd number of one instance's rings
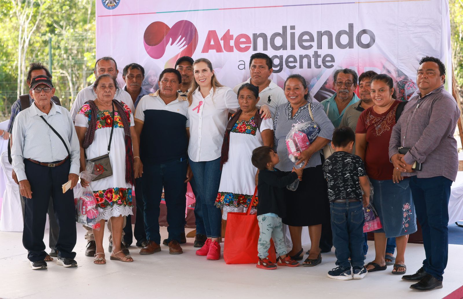
[[[56,161],[58,162],[58,161]],[[53,162],[50,162],[53,163]],[[44,230],[50,197],[59,227],[56,247],[58,255],[74,259],[76,242],[75,205],[72,190],[63,194],[62,185],[68,181],[70,159],[62,165],[47,167],[24,159],[25,173],[31,184],[32,198],[25,198],[23,245],[29,253],[29,261],[45,258]]]

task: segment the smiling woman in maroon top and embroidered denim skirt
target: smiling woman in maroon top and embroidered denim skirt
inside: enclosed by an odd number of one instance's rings
[[[415,207],[408,186],[409,178],[389,161],[389,140],[401,101],[395,100],[393,80],[386,74],[371,78],[371,99],[375,103],[360,115],[355,153],[365,162],[365,170],[373,185],[373,205],[382,229],[375,230],[375,260],[368,263],[368,272],[386,270],[386,239],[395,237],[397,256],[393,274],[405,274],[405,248],[408,235],[417,230]]]

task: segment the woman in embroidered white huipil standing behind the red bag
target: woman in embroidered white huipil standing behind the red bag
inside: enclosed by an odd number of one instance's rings
[[[250,83],[238,89],[238,111],[232,115],[222,144],[222,178],[215,204],[228,212],[244,212],[256,188],[257,168],[251,163],[252,151],[259,146],[273,146],[273,120],[262,119],[257,110],[259,89]],[[257,201],[251,214],[256,214]]]

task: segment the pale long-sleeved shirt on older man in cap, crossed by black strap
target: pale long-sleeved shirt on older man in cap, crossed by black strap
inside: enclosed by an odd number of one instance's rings
[[[40,116],[44,116],[50,126],[63,138],[70,152],[71,168],[69,173],[78,175],[80,145],[69,111],[52,102],[50,112],[47,115],[40,111],[34,102],[31,107],[19,112],[13,125],[11,157],[13,159],[13,170],[16,172],[18,180],[27,179],[24,170],[24,159],[50,163],[61,161],[68,156],[63,141]]]

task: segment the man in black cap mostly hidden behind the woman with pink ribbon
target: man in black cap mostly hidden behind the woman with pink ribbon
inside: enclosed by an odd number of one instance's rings
[[[175,63],[175,70],[178,70],[181,75],[181,84],[180,89],[177,90],[178,94],[183,98],[187,99],[188,92],[191,86],[191,82],[194,79],[193,76],[193,58],[189,56],[183,56],[177,59]],[[203,247],[204,242],[206,242],[206,229],[204,228],[204,222],[202,218],[202,204],[199,193],[197,192],[196,182],[194,178],[190,181],[191,189],[194,193],[195,205],[194,205],[194,219],[196,224],[195,229],[195,238],[194,238],[194,247]],[[186,221],[185,221],[186,224]],[[186,243],[187,239],[185,237],[185,228],[181,234],[180,244]],[[167,239],[163,241],[164,245],[168,245]]]

